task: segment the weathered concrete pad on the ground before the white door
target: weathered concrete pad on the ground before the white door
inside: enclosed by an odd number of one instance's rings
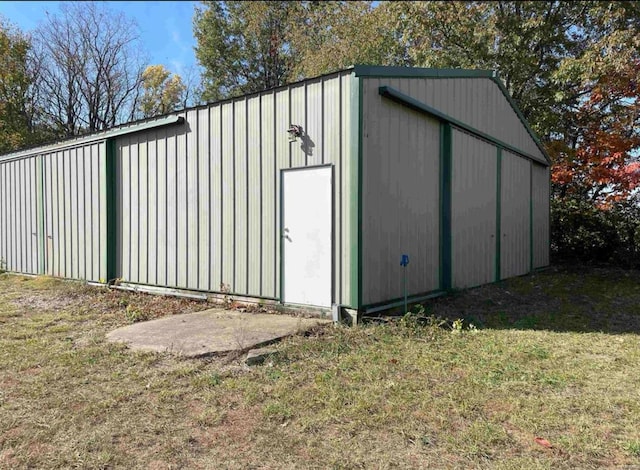
[[[211,309],[124,326],[109,333],[107,340],[126,343],[135,351],[198,357],[244,351],[330,321]]]

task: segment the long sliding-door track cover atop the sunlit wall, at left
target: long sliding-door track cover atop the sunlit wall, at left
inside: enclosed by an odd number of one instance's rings
[[[87,134],[83,136],[70,137],[69,139],[61,140],[53,144],[42,145],[40,147],[32,147],[30,149],[25,149],[18,152],[8,153],[6,155],[1,155],[0,162],[18,160],[20,158],[25,158],[25,157],[33,157],[35,155],[54,152],[54,151],[66,149],[69,147],[78,147],[78,146],[86,145],[92,142],[111,139],[113,137],[118,137],[121,135],[133,134],[134,132],[140,132],[148,129],[155,129],[157,127],[164,127],[172,124],[183,124],[184,122],[185,121],[182,116],[173,115],[173,116],[166,116],[163,118],[149,119],[146,121],[141,121],[139,123],[136,123],[136,122],[127,123],[119,127],[114,127],[113,129],[108,129],[106,131],[99,131],[99,132],[94,132],[92,134]]]

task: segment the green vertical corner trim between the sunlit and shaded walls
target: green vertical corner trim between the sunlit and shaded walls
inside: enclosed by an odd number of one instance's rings
[[[362,155],[362,124],[363,124],[363,81],[355,74],[351,75],[351,152],[350,184],[351,184],[351,299],[350,306],[356,310],[362,307],[362,190],[363,190],[363,155]],[[357,136],[354,138],[354,136]],[[353,188],[358,188],[353,191]]]

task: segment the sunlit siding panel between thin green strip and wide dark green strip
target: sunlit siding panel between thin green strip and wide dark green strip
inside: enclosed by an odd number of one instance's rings
[[[104,142],[44,154],[42,159],[46,274],[106,280]]]

